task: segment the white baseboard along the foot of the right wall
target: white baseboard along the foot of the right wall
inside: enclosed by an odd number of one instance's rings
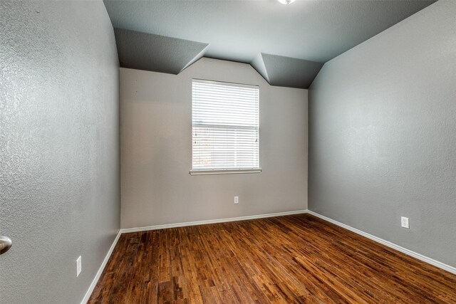
[[[452,267],[450,265],[444,264],[444,263],[439,262],[439,261],[435,261],[432,258],[428,258],[427,256],[423,256],[423,254],[416,253],[415,251],[408,250],[407,248],[404,248],[404,247],[401,247],[399,245],[396,245],[395,243],[391,243],[390,241],[385,241],[384,239],[380,239],[377,236],[373,236],[372,234],[368,234],[368,233],[366,233],[364,231],[358,230],[358,229],[353,228],[351,226],[348,226],[346,224],[342,224],[341,222],[335,221],[335,220],[330,219],[330,218],[328,218],[326,216],[322,216],[321,214],[318,214],[318,213],[316,213],[314,211],[310,211],[309,210],[308,213],[313,215],[313,216],[316,216],[316,217],[318,217],[320,219],[328,221],[328,222],[330,222],[332,224],[336,224],[337,226],[341,226],[344,229],[350,230],[350,231],[352,231],[352,232],[354,232],[356,234],[359,234],[361,236],[364,236],[364,237],[366,237],[368,239],[371,239],[371,240],[376,241],[378,243],[381,243],[381,244],[383,244],[385,246],[393,248],[393,249],[395,249],[397,251],[405,253],[408,256],[413,256],[414,258],[418,258],[418,260],[423,261],[425,263],[429,263],[429,264],[431,264],[431,265],[433,265],[435,267],[441,268],[444,271],[448,271],[450,273],[456,274],[456,268],[455,267]]]

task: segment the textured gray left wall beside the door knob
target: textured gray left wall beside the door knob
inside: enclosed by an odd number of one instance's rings
[[[14,242],[0,303],[80,303],[120,228],[119,71],[103,2],[1,1],[0,65],[0,234]]]

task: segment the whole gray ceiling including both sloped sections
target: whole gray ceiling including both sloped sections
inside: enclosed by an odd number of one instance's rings
[[[114,28],[129,30],[116,30],[122,66],[179,73],[205,56],[250,63],[271,85],[294,88],[308,88],[323,63],[433,2],[104,1]]]

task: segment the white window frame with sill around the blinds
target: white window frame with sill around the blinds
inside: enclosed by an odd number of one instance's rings
[[[193,155],[194,155],[194,140],[193,140],[193,83],[212,83],[212,84],[220,84],[220,85],[229,85],[238,88],[256,88],[258,90],[258,167],[254,168],[227,168],[227,169],[210,169],[210,168],[202,168],[202,169],[195,169],[193,168]],[[259,85],[249,85],[244,83],[231,83],[227,81],[219,81],[219,80],[206,80],[206,79],[199,79],[199,78],[192,78],[192,93],[191,93],[191,124],[192,124],[192,159],[191,159],[191,168],[190,175],[206,175],[206,174],[246,174],[246,173],[260,173],[262,172],[261,169],[261,162],[260,162],[260,140],[259,140],[259,131],[260,131],[260,86]],[[239,126],[242,127],[242,126]]]

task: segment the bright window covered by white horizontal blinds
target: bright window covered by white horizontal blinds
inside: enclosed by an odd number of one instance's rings
[[[191,174],[259,169],[259,87],[192,82]]]

